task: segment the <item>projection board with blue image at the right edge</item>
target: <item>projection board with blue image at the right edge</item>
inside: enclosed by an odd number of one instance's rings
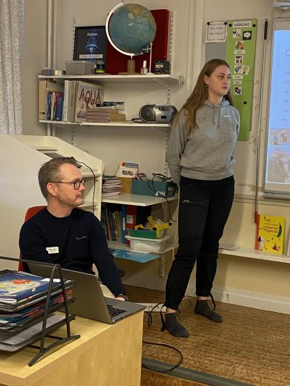
[[[290,22],[273,21],[264,189],[290,197]]]

